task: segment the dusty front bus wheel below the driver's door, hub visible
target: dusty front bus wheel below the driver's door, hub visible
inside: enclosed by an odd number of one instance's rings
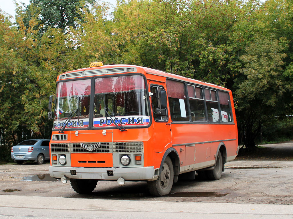
[[[162,171],[157,180],[148,181],[149,192],[154,196],[163,196],[170,193],[174,180],[174,169],[170,157],[166,157]]]

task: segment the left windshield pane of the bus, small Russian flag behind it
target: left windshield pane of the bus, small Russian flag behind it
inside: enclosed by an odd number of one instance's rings
[[[91,79],[59,82],[56,93],[54,128],[61,128],[71,116],[66,128],[88,127]]]

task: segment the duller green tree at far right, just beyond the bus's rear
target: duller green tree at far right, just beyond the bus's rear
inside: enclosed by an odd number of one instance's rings
[[[234,97],[240,141],[248,149],[255,148],[263,126],[274,126],[276,118],[292,113],[291,36],[280,34],[284,27],[280,22],[287,14],[284,6],[285,1],[266,1],[260,7],[240,57],[243,67],[235,79]]]

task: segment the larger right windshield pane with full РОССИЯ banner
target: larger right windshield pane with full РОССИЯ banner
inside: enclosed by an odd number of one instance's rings
[[[114,127],[113,120],[122,126],[149,124],[144,78],[131,75],[96,79],[93,117],[94,127]]]

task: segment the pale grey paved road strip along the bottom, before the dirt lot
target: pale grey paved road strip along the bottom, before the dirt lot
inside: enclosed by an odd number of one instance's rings
[[[0,218],[292,218],[292,205],[0,195]]]

